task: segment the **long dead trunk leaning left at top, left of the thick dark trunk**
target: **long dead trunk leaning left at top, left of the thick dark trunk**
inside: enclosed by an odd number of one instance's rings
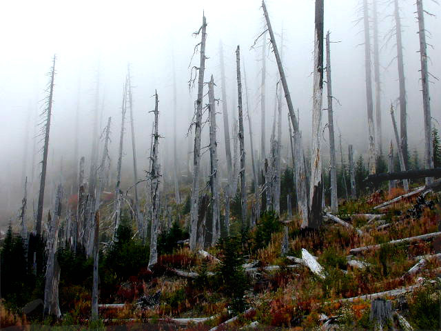
[[[298,128],[298,121],[296,118],[296,114],[294,113],[294,106],[291,101],[291,94],[289,94],[289,88],[288,88],[287,79],[285,77],[285,71],[283,70],[282,61],[278,53],[276,39],[274,38],[274,33],[271,28],[271,21],[269,21],[269,16],[268,16],[267,8],[265,6],[265,1],[262,1],[262,9],[263,9],[263,14],[265,15],[265,21],[267,22],[267,28],[271,39],[271,45],[273,46],[273,50],[274,50],[274,57],[276,57],[278,72],[280,74],[280,79],[282,81],[283,91],[285,92],[285,99],[287,101],[289,118],[291,119],[291,124],[294,131],[293,132],[294,153],[295,153],[294,168],[296,170],[296,181],[297,181],[296,183],[297,204],[298,204],[298,212],[300,214],[300,219],[302,220],[302,228],[306,228],[309,225],[309,205],[307,198],[305,161],[304,161],[304,155],[302,149],[302,135]]]

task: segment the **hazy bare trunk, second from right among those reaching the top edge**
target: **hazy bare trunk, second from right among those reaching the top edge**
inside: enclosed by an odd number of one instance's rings
[[[393,1],[395,17],[395,32],[397,43],[397,63],[398,63],[398,81],[400,84],[400,141],[402,152],[404,155],[404,164],[407,167],[409,160],[409,153],[407,149],[407,101],[406,101],[406,81],[404,79],[404,61],[402,56],[402,30],[400,8],[398,7],[398,0]]]

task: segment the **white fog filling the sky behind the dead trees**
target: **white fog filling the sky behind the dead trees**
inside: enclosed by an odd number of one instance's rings
[[[355,148],[356,157],[367,152],[367,106],[365,94],[365,66],[362,24],[356,21],[362,17],[360,3],[356,0],[325,1],[325,30],[331,32],[332,83],[334,97],[334,123],[336,137],[342,137],[343,152],[348,143]],[[407,111],[409,150],[418,148],[423,157],[424,120],[422,116],[422,94],[420,84],[420,54],[418,23],[414,1],[400,1],[404,38],[404,70],[407,83]],[[37,189],[41,166],[41,137],[36,137],[41,122],[38,115],[44,108],[45,88],[50,77],[47,73],[52,57],[57,55],[54,87],[54,105],[50,128],[48,177],[46,179],[45,206],[50,205],[54,185],[63,178],[65,190],[72,193],[72,174],[79,160],[74,159],[74,143],[79,139],[79,157],[90,161],[92,149],[92,123],[99,100],[100,132],[107,117],[112,117],[110,158],[111,174],[114,177],[119,132],[121,130],[121,99],[127,66],[133,86],[134,130],[139,179],[145,177],[150,153],[150,139],[154,115],[155,90],[159,96],[159,132],[161,166],[163,167],[165,190],[172,190],[173,159],[173,72],[176,73],[177,88],[177,143],[178,171],[181,186],[188,183],[187,159],[192,163],[192,135],[189,132],[194,112],[196,86],[189,87],[192,66],[198,66],[199,54],[194,47],[200,37],[194,37],[201,26],[202,16],[207,17],[207,59],[205,81],[214,76],[215,97],[221,99],[219,45],[223,42],[227,100],[218,104],[218,157],[222,165],[221,175],[225,177],[225,141],[223,135],[222,104],[226,102],[230,127],[237,118],[236,46],[240,45],[247,74],[249,116],[252,117],[255,149],[260,149],[260,74],[261,46],[259,34],[265,30],[265,20],[260,1],[6,1],[0,17],[2,52],[0,52],[0,226],[12,219],[21,206],[23,176],[32,176],[34,165],[34,188],[28,197],[37,208]],[[440,14],[440,6],[424,1],[428,12]],[[299,109],[300,130],[304,147],[310,148],[312,74],[314,58],[314,1],[267,0],[272,26],[277,34],[278,44],[283,32],[283,65],[294,107]],[[396,46],[394,38],[385,43],[387,32],[393,28],[392,5],[380,4],[380,75],[382,81],[382,143],[389,146],[393,138],[389,105],[396,105],[399,95]],[[437,17],[426,16],[428,42],[433,45],[428,52],[431,57],[429,71],[434,77],[441,77],[441,24]],[[266,137],[269,137],[274,115],[278,71],[266,43],[267,84],[265,88]],[[191,61],[192,60],[192,61]],[[393,61],[391,63],[391,61]],[[390,66],[389,66],[390,63]],[[99,81],[99,84],[97,84]],[[431,109],[433,126],[441,123],[439,93],[440,82],[432,78]],[[96,90],[96,86],[99,90]],[[245,86],[243,86],[245,88]],[[325,86],[326,88],[326,86]],[[245,92],[245,90],[244,90]],[[244,110],[247,107],[244,99]],[[204,103],[208,101],[204,100]],[[326,99],[323,100],[326,108]],[[75,130],[76,112],[79,113],[79,132]],[[398,119],[398,112],[396,114]],[[129,188],[133,178],[132,140],[129,114],[126,115],[122,187]],[[204,115],[207,118],[207,114]],[[282,158],[291,165],[287,108],[283,108]],[[286,119],[286,120],[285,120]],[[326,110],[322,126],[327,123]],[[249,153],[248,124],[245,121],[245,144]],[[232,137],[232,128],[230,128]],[[324,164],[328,163],[328,135],[324,130],[322,149]],[[34,148],[34,142],[36,148]],[[336,141],[338,143],[338,141]],[[208,126],[203,128],[201,146],[208,145]],[[27,146],[27,147],[26,147]],[[103,141],[99,150],[102,151]],[[268,150],[269,148],[267,148]],[[346,153],[345,153],[346,154]],[[347,155],[345,156],[347,159]],[[206,168],[209,153],[203,154]],[[338,158],[339,159],[339,158]],[[366,158],[365,158],[366,159]],[[248,165],[250,162],[248,162]],[[284,165],[286,166],[286,165]],[[207,176],[207,171],[203,174]],[[247,169],[247,172],[251,169]],[[62,176],[60,176],[62,172]],[[87,174],[86,174],[87,175]],[[251,176],[248,177],[251,179]],[[251,181],[251,180],[250,180]],[[110,188],[109,190],[112,190]]]

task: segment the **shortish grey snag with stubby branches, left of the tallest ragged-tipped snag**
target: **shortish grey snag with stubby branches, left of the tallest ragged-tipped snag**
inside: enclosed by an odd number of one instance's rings
[[[152,270],[153,266],[158,262],[158,250],[156,242],[158,239],[158,223],[159,223],[159,178],[161,177],[160,166],[158,160],[159,134],[158,134],[158,93],[154,93],[154,143],[152,150],[152,168],[148,174],[150,179],[150,194],[152,196],[151,214],[152,228],[150,230],[150,258],[148,269]]]

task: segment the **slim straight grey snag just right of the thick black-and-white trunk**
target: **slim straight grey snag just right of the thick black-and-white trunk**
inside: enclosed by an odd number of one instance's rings
[[[334,139],[334,114],[332,110],[332,83],[331,83],[331,41],[329,31],[326,34],[326,86],[328,92],[328,132],[329,132],[329,157],[331,162],[331,210],[338,213],[337,196],[337,164],[336,141]]]

